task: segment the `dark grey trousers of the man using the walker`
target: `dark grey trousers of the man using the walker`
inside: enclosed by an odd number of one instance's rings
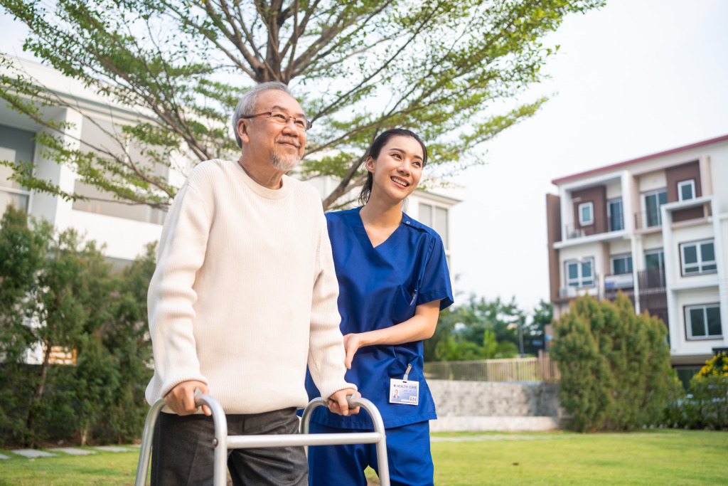
[[[226,415],[229,435],[298,434],[296,409]],[[160,413],[154,428],[151,486],[213,484],[213,419]],[[228,451],[235,486],[306,486],[309,466],[303,447],[261,447]]]

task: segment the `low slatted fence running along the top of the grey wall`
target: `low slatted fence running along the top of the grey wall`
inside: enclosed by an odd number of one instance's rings
[[[424,375],[431,380],[464,381],[558,381],[558,372],[549,353],[538,358],[482,359],[425,363]]]

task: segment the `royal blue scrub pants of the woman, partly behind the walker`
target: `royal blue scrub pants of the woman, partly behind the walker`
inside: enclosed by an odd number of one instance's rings
[[[312,434],[371,432],[362,428],[334,428],[311,423]],[[430,422],[387,428],[387,461],[392,486],[432,486]],[[366,486],[367,466],[379,474],[376,444],[309,447],[309,486]]]

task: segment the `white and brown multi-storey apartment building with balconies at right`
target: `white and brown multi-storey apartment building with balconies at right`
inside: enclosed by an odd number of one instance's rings
[[[728,135],[552,183],[555,318],[577,295],[622,291],[665,322],[683,378],[728,347]]]

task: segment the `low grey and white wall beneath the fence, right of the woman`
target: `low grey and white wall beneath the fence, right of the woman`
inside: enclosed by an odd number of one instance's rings
[[[547,431],[559,428],[557,383],[427,380],[438,410],[430,430]]]

